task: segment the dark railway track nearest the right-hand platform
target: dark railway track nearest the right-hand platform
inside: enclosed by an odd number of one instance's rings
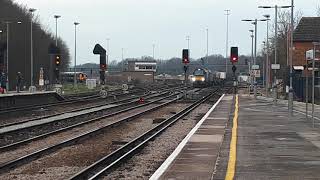
[[[215,90],[213,93],[210,93],[209,95],[206,95],[205,97],[201,98],[200,100],[186,107],[185,109],[178,112],[177,114],[167,118],[156,127],[145,132],[141,136],[135,138],[134,140],[125,144],[124,146],[112,152],[111,154],[99,159],[92,165],[88,166],[87,168],[83,169],[79,173],[72,176],[70,179],[73,180],[73,179],[101,178],[106,172],[110,171],[111,169],[119,165],[119,163],[128,160],[130,157],[138,153],[144,146],[146,146],[148,142],[150,142],[155,137],[159,136],[168,127],[172,126],[178,120],[185,117],[187,114],[189,114],[191,111],[196,109],[205,101],[209,100],[212,96],[214,96],[218,92],[219,92],[219,89]]]

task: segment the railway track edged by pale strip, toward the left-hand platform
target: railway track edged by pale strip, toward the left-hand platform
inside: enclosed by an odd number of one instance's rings
[[[145,96],[146,100],[154,99],[169,94],[172,90],[160,94],[149,94]],[[17,124],[14,126],[8,126],[0,129],[0,150],[10,144],[16,144],[16,142],[24,142],[34,137],[39,137],[42,134],[50,134],[50,132],[58,131],[59,129],[68,129],[68,127],[74,127],[75,125],[91,122],[90,119],[99,119],[99,117],[108,117],[116,115],[122,112],[126,112],[132,109],[143,107],[154,103],[155,101],[146,102],[142,105],[137,105],[138,99],[135,98],[129,102],[112,104],[103,107],[95,108],[94,110],[87,112],[76,112],[75,115],[61,115],[52,118],[37,120],[34,123],[27,126],[25,124]],[[26,122],[28,123],[28,122]]]

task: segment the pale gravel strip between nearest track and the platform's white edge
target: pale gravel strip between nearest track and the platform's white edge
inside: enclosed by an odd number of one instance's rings
[[[104,179],[149,179],[210,108],[209,104],[199,106]]]

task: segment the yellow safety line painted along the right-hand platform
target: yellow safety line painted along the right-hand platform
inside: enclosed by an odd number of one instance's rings
[[[236,103],[233,117],[232,137],[230,143],[230,153],[228,169],[225,180],[233,180],[236,171],[237,160],[237,137],[238,137],[238,113],[239,113],[239,97],[236,95]]]

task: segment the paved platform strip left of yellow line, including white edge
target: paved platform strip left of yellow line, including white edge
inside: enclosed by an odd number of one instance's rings
[[[150,179],[210,179],[232,102],[233,95],[221,98]]]

